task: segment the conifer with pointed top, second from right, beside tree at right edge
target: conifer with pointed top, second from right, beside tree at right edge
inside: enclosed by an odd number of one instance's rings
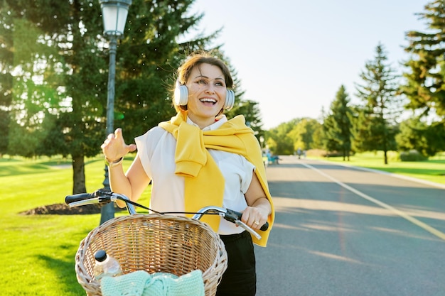
[[[358,150],[383,150],[387,164],[387,151],[395,149],[397,118],[402,112],[400,97],[396,96],[397,75],[387,64],[381,43],[375,48],[375,59],[365,63],[360,73],[363,84],[355,84],[362,106],[355,116],[353,137]]]

